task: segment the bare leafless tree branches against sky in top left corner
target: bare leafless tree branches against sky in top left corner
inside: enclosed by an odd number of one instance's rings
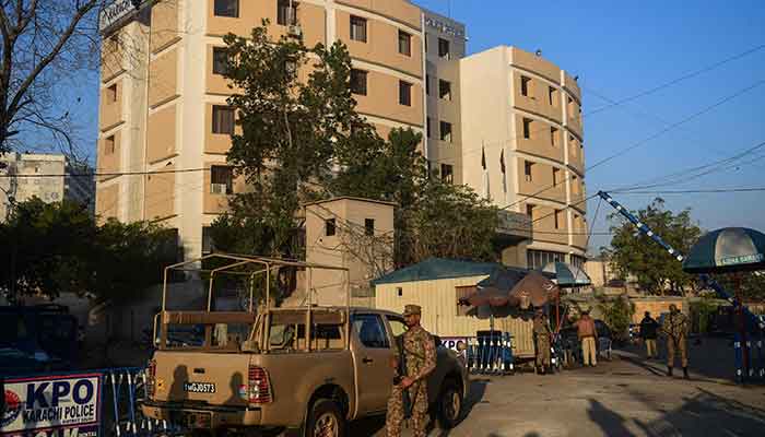
[[[26,129],[73,146],[62,81],[92,68],[104,0],[3,0],[0,5],[0,154]]]

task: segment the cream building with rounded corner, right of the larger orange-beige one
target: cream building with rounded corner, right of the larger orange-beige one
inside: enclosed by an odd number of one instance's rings
[[[510,264],[581,264],[587,249],[581,94],[541,57],[495,47],[460,61],[462,178],[494,204],[527,214],[532,238]]]

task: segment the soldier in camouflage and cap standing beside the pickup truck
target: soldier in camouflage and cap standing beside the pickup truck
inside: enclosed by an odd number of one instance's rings
[[[433,336],[420,326],[422,309],[417,305],[407,305],[403,310],[404,321],[409,329],[403,335],[403,351],[396,347],[396,357],[391,365],[398,369],[399,354],[404,354],[407,375],[400,377],[388,400],[386,430],[388,437],[401,435],[401,423],[404,420],[403,390],[408,390],[411,403],[412,428],[414,437],[425,437],[427,426],[427,376],[436,368],[436,344]]]

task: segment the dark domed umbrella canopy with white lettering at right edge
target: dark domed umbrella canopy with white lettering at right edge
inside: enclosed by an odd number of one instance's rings
[[[765,270],[765,235],[746,227],[723,227],[698,239],[683,261],[688,273]]]

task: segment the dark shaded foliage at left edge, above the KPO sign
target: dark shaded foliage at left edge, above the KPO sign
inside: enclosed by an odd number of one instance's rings
[[[129,297],[161,281],[163,267],[177,259],[175,243],[174,232],[155,225],[99,226],[78,203],[33,198],[0,224],[0,288]]]

